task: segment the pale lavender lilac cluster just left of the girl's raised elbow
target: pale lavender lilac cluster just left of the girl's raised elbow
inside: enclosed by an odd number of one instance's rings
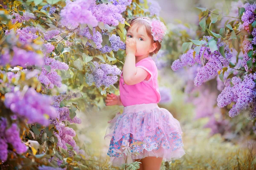
[[[116,75],[120,75],[121,71],[116,65],[108,65],[108,64],[98,64],[97,62],[93,62],[95,68],[90,66],[89,71],[85,74],[86,82],[88,85],[92,85],[95,82],[97,88],[102,85],[109,87],[117,82],[118,77]]]

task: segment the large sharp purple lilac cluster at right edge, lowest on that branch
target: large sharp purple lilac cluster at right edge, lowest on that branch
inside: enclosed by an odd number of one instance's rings
[[[225,81],[226,87],[217,99],[218,107],[223,108],[224,106],[229,105],[231,102],[236,102],[236,104],[233,105],[229,111],[229,116],[235,117],[239,115],[242,110],[246,110],[250,108],[250,106],[254,106],[253,102],[256,96],[255,79],[256,73],[246,74],[243,80],[239,79],[238,77],[233,77],[231,80],[233,87],[230,85],[230,79],[227,79]],[[252,108],[251,110],[254,111],[255,108]]]

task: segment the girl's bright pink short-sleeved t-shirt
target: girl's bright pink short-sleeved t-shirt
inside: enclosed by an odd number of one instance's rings
[[[161,100],[157,83],[157,66],[153,59],[146,57],[135,64],[148,71],[151,77],[143,80],[135,85],[127,85],[124,83],[122,73],[119,81],[119,91],[122,104],[124,106],[158,103]]]

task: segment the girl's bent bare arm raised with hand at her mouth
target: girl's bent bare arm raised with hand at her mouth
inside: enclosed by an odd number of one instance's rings
[[[135,48],[135,50],[134,50]],[[126,58],[123,66],[123,79],[125,84],[134,85],[142,82],[148,76],[143,68],[136,68],[135,63],[136,42],[133,39],[126,40]]]

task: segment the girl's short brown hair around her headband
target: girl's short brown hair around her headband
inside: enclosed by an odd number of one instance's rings
[[[139,28],[140,26],[145,26],[147,35],[148,35],[148,37],[151,38],[152,44],[153,44],[154,42],[156,42],[156,45],[157,45],[157,48],[156,48],[153,52],[149,53],[149,55],[152,56],[152,55],[154,55],[154,54],[157,54],[157,52],[160,50],[160,48],[161,48],[161,46],[162,46],[161,43],[160,43],[159,41],[154,41],[153,36],[152,36],[152,34],[151,34],[151,26],[150,26],[145,20],[136,20],[136,19],[138,19],[138,18],[145,18],[145,19],[150,20],[148,17],[136,17],[136,18],[132,19],[131,21],[129,21],[130,26],[132,27],[133,25],[135,25],[135,26],[137,27],[137,30],[138,30],[138,28]],[[146,23],[146,24],[145,24],[145,23]],[[127,32],[128,32],[128,30],[131,28],[130,26],[126,26],[125,29],[126,29]]]

